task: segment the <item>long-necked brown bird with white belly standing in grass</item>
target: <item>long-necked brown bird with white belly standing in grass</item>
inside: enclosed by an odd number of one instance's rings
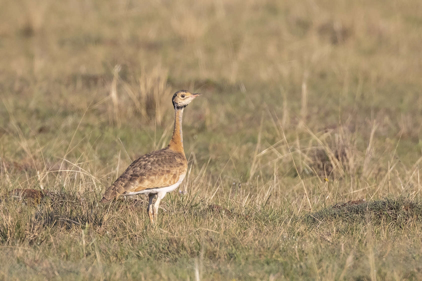
[[[104,192],[100,203],[107,203],[121,195],[146,194],[149,196],[148,216],[151,224],[157,222],[160,201],[176,189],[187,172],[187,159],[183,150],[183,110],[201,94],[181,90],[172,97],[174,107],[174,130],[167,147],[147,153],[129,165],[119,178]],[[154,206],[152,206],[155,195]]]

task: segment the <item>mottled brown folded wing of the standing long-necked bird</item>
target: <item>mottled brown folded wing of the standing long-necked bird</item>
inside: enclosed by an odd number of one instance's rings
[[[101,202],[107,202],[124,192],[165,187],[175,184],[186,173],[184,154],[170,149],[160,149],[145,154],[135,161],[108,187]]]

